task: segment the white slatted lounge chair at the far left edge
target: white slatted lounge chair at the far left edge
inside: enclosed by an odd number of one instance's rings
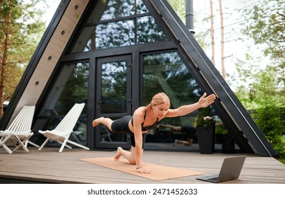
[[[25,105],[15,117],[10,126],[4,131],[0,131],[0,146],[2,146],[9,154],[12,154],[20,147],[22,147],[27,152],[29,151],[27,144],[28,140],[33,135],[31,127],[34,113],[35,106]],[[13,151],[11,151],[8,146],[6,146],[7,141],[11,141],[14,146],[16,146]]]

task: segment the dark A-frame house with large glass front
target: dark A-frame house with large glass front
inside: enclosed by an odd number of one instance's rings
[[[160,91],[171,107],[194,103],[203,92],[216,94],[214,112],[241,152],[277,156],[166,0],[62,0],[0,127],[23,105],[36,105],[33,132],[50,129],[74,103],[84,102],[75,134],[90,148],[128,146],[128,136],[110,138],[104,127],[92,128],[92,120],[131,115]],[[193,124],[197,114],[175,123]]]

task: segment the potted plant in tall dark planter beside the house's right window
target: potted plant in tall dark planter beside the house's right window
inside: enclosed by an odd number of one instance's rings
[[[215,120],[211,116],[210,107],[202,109],[196,122],[196,132],[200,153],[214,152]]]

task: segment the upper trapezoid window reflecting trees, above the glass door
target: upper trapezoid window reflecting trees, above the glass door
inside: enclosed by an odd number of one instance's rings
[[[141,14],[140,16],[138,16]],[[140,0],[98,1],[71,53],[167,40]]]

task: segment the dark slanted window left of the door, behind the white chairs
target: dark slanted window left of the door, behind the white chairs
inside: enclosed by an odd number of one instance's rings
[[[49,95],[42,100],[44,104],[42,104],[32,131],[54,129],[75,103],[85,103],[70,139],[78,144],[86,145],[88,75],[89,64],[87,62],[63,64],[51,85]]]

